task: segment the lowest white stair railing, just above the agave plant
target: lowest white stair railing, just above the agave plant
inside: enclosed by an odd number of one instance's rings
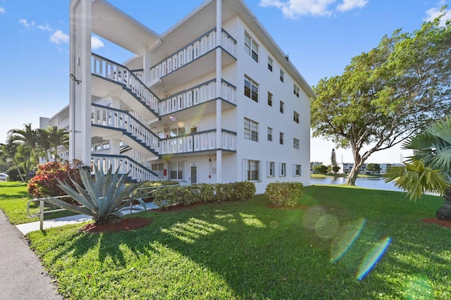
[[[104,171],[108,170],[111,166],[113,170],[119,170],[120,174],[125,174],[130,171],[129,176],[132,180],[145,181],[156,180],[156,175],[151,170],[140,165],[136,161],[128,158],[127,156],[99,156],[93,155],[91,158],[92,165],[97,168],[104,168]]]

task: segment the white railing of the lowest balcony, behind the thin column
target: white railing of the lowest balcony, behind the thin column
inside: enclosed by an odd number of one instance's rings
[[[188,152],[224,149],[236,150],[236,133],[223,130],[222,144],[216,145],[216,130],[197,132],[181,137],[170,137],[161,140],[159,154],[182,154]]]

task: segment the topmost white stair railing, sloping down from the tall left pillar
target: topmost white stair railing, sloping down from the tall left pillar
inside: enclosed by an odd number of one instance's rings
[[[143,104],[158,113],[159,98],[148,89],[138,77],[123,65],[110,61],[96,54],[92,54],[92,74],[99,75],[125,85],[135,94]]]

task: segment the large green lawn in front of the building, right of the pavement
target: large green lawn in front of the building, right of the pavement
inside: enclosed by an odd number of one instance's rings
[[[153,219],[139,230],[79,224],[28,237],[68,299],[450,299],[451,229],[422,221],[443,199],[304,192],[305,209],[268,208],[257,195],[131,215]]]

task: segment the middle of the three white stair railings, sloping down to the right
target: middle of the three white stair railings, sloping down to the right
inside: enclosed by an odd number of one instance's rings
[[[144,143],[150,149],[155,150],[159,148],[158,137],[149,128],[125,111],[92,105],[91,123],[125,130],[132,137],[139,140],[138,142]]]

